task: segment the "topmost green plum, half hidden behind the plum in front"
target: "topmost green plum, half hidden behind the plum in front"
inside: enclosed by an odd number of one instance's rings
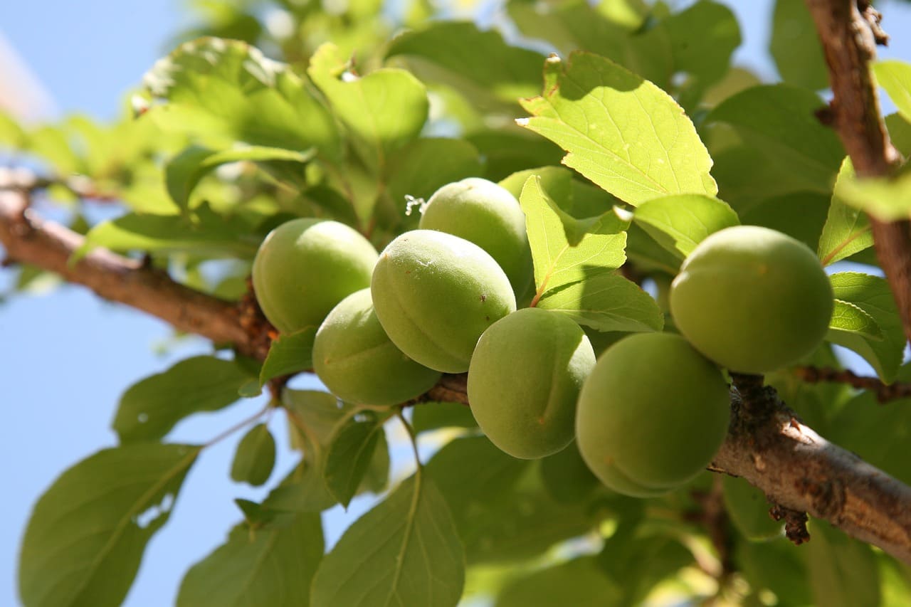
[[[525,213],[516,197],[493,181],[470,177],[436,190],[422,211],[418,227],[454,234],[490,253],[517,296],[531,283]]]

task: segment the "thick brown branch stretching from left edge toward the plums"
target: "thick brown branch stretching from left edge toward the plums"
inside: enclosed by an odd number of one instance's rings
[[[268,335],[250,330],[249,315],[242,314],[240,306],[189,289],[167,273],[106,249],[96,249],[70,265],[70,255],[82,245],[83,237],[41,221],[27,202],[25,191],[0,190],[0,242],[7,260],[58,273],[104,299],[157,316],[179,331],[234,345],[244,355],[265,357]]]

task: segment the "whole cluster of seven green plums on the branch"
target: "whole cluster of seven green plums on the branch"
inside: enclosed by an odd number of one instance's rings
[[[313,368],[344,401],[394,405],[467,372],[478,427],[516,458],[576,439],[610,489],[663,494],[711,461],[730,417],[722,368],[763,374],[811,353],[833,294],[803,243],[766,228],[711,234],[670,285],[680,334],[632,334],[596,359],[569,316],[517,310],[532,283],[525,216],[493,182],[445,185],[417,230],[377,253],[336,221],[272,231],[253,264],[282,333],[318,326]]]

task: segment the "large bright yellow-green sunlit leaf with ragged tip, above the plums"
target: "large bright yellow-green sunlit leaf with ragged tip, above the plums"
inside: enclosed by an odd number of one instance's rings
[[[566,149],[563,164],[622,201],[718,191],[709,152],[681,107],[609,59],[548,58],[544,96],[522,106],[532,114],[522,126]]]

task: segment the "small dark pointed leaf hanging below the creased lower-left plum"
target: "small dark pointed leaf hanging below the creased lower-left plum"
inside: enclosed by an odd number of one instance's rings
[[[346,509],[361,485],[383,433],[383,420],[371,410],[349,417],[335,432],[322,474],[329,492]]]

